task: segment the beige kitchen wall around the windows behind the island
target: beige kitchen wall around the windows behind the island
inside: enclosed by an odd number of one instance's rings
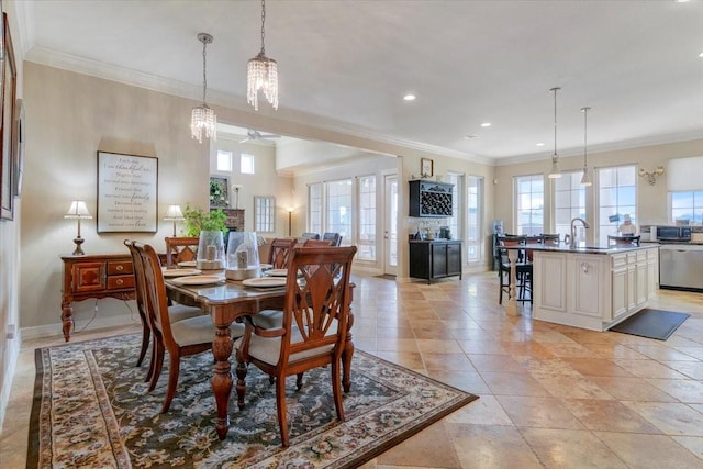
[[[684,158],[691,156],[703,155],[703,139],[678,142],[662,145],[651,145],[639,148],[627,148],[612,152],[590,153],[588,156],[589,167],[602,168],[609,166],[637,165],[638,168],[645,168],[648,171],[663,166],[666,168],[667,160],[671,158]],[[583,157],[574,156],[561,158],[560,169],[578,170],[582,168]],[[513,220],[513,178],[524,175],[545,175],[545,224],[546,230],[551,225],[553,205],[550,198],[550,182],[546,175],[550,169],[550,159],[545,157],[544,160],[513,164],[495,167],[495,217],[504,221],[504,228],[507,233],[514,233],[515,224]],[[593,174],[592,174],[593,175]],[[595,205],[594,185],[587,189],[587,198],[591,206]],[[639,224],[661,224],[670,222],[667,209],[667,178],[666,175],[657,177],[655,186],[650,186],[645,178],[637,178],[637,221]],[[589,210],[587,219],[594,220],[593,210]],[[596,233],[594,230],[587,232],[591,239],[594,239]],[[563,233],[562,233],[563,234]]]

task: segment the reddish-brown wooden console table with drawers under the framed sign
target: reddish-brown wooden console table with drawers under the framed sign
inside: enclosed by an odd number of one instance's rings
[[[62,256],[62,260],[64,261],[62,322],[66,342],[70,339],[74,328],[71,302],[108,297],[134,300],[134,268],[129,253]]]

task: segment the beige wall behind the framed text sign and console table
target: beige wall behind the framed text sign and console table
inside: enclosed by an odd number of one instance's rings
[[[164,249],[172,225],[161,217],[171,203],[208,206],[209,147],[190,137],[192,101],[113,81],[25,64],[26,160],[22,194],[20,323],[29,336],[57,332],[62,261],[70,254],[75,221],[70,201],[83,199],[96,215],[97,150],[158,158],[158,233],[98,234],[82,224],[87,254],[126,253],[125,238]],[[96,302],[74,304],[76,330],[93,316]],[[134,303],[98,302],[91,327],[138,322]]]

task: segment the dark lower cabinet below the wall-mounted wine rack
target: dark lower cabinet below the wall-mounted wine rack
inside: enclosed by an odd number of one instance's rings
[[[411,241],[410,277],[432,279],[459,276],[461,279],[461,242],[457,239]]]

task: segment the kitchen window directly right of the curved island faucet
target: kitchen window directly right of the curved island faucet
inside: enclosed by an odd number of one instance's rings
[[[618,166],[598,169],[599,182],[599,243],[607,244],[607,235],[617,234],[617,227],[625,214],[636,224],[637,213],[637,168]]]

